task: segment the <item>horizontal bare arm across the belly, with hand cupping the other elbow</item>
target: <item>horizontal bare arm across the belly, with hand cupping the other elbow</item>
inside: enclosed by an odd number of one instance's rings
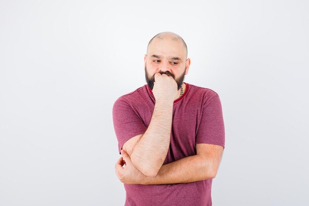
[[[115,165],[119,180],[127,184],[174,184],[214,178],[217,174],[223,147],[212,144],[196,144],[197,154],[162,165],[155,177],[140,172],[125,151]],[[123,168],[122,166],[125,165]]]

